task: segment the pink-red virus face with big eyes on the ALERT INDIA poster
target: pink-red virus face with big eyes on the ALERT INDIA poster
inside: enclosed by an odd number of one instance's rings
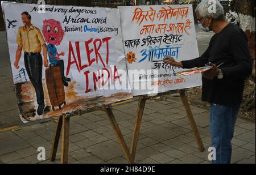
[[[60,45],[64,36],[64,30],[62,29],[60,22],[54,19],[46,19],[43,23],[43,35],[46,42],[53,45]]]

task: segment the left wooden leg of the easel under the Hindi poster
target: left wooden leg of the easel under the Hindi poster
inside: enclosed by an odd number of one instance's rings
[[[135,161],[135,153],[139,139],[139,129],[141,128],[141,120],[143,116],[144,106],[146,104],[146,99],[139,97],[137,117],[135,119],[135,125],[133,130],[133,139],[131,140],[130,154],[133,161]]]

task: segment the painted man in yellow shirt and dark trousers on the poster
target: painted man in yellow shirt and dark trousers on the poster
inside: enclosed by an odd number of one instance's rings
[[[42,115],[44,111],[44,91],[42,84],[42,68],[48,66],[47,60],[47,48],[46,42],[42,36],[40,30],[31,24],[31,15],[28,12],[22,12],[23,27],[20,27],[17,33],[16,42],[18,48],[16,50],[14,67],[19,69],[19,60],[24,52],[24,63],[28,74],[28,78],[35,88],[36,100],[38,103],[38,109],[36,112],[38,115]],[[41,50],[43,48],[43,56],[41,56]]]

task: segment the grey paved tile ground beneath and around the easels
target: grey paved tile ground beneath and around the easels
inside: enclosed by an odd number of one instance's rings
[[[135,163],[209,163],[208,110],[191,106],[205,150],[195,138],[179,97],[147,101]],[[115,106],[124,138],[130,146],[138,101]],[[106,114],[101,110],[71,118],[69,163],[127,163]],[[51,143],[56,121],[38,123],[0,133],[2,163],[51,163]],[[234,133],[232,163],[255,163],[255,123],[238,118]],[[37,148],[46,148],[46,161],[37,160]],[[60,163],[60,147],[57,159]]]

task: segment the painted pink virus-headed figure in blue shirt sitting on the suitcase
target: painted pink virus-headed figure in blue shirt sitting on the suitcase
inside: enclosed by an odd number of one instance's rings
[[[65,77],[64,75],[64,61],[60,56],[64,56],[64,52],[57,52],[57,45],[60,45],[64,37],[64,30],[61,27],[60,22],[54,19],[46,19],[43,21],[43,35],[46,39],[47,44],[47,53],[49,57],[49,62],[55,66],[60,67],[62,81],[64,86],[68,86],[68,82],[71,81],[70,78]]]

